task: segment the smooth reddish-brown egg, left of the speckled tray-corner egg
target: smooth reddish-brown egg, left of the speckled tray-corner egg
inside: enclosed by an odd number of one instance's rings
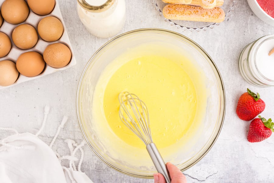
[[[39,75],[45,68],[43,56],[37,52],[25,52],[16,61],[16,68],[20,74],[27,77]]]

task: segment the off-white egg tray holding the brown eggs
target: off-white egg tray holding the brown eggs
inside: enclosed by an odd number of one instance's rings
[[[2,4],[3,4],[4,1],[5,0],[0,0],[0,5],[1,6],[2,6]],[[55,16],[63,24],[63,27],[64,27],[63,34],[62,34],[61,38],[59,40],[57,40],[57,41],[54,41],[54,42],[44,41],[42,38],[40,38],[40,36],[38,34],[37,25],[38,25],[39,21],[41,19],[43,19],[44,17],[46,17],[46,16]],[[22,50],[20,48],[17,48],[16,45],[14,45],[14,43],[12,41],[12,31],[18,25],[25,24],[25,23],[32,25],[36,29],[37,34],[38,34],[38,41],[37,41],[36,45],[33,48]],[[50,44],[53,44],[53,43],[63,43],[65,45],[67,45],[68,48],[71,51],[72,57],[71,57],[71,60],[68,63],[68,65],[66,65],[65,67],[62,67],[62,68],[53,68],[53,67],[51,67],[51,66],[49,66],[49,65],[46,64],[43,72],[41,74],[39,74],[38,76],[35,76],[35,77],[26,77],[26,76],[24,76],[22,74],[19,74],[19,77],[18,77],[17,81],[14,84],[9,85],[9,86],[5,86],[5,87],[0,86],[0,89],[7,88],[7,87],[10,87],[10,86],[14,86],[16,84],[23,83],[25,81],[30,81],[30,80],[33,80],[33,79],[36,79],[36,78],[39,78],[39,77],[43,77],[43,76],[45,76],[47,74],[51,74],[51,73],[54,73],[54,72],[60,71],[60,70],[65,70],[65,69],[68,69],[68,68],[76,65],[76,59],[75,59],[74,53],[72,51],[72,47],[71,47],[70,41],[68,39],[68,34],[67,34],[67,31],[66,31],[66,28],[65,28],[65,23],[64,23],[62,15],[61,15],[61,12],[60,12],[57,0],[55,0],[55,7],[54,7],[53,11],[50,14],[41,16],[41,15],[37,15],[37,14],[33,13],[33,11],[31,11],[31,9],[30,9],[30,13],[29,13],[28,18],[23,23],[20,23],[20,24],[13,25],[13,24],[10,24],[10,23],[6,22],[5,20],[3,20],[3,24],[0,27],[0,31],[4,32],[5,34],[7,34],[9,36],[10,41],[12,42],[12,48],[11,48],[11,50],[10,50],[10,52],[9,52],[9,54],[7,56],[0,58],[0,61],[2,61],[2,60],[11,60],[14,63],[16,63],[17,58],[22,53],[24,53],[24,52],[30,52],[30,51],[38,52],[38,53],[40,53],[43,56],[43,52],[44,52],[45,48],[47,47],[47,45],[50,45]]]

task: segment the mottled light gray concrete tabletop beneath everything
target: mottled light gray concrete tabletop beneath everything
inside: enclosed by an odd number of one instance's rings
[[[51,107],[42,139],[50,142],[64,115],[68,122],[54,148],[59,154],[68,153],[63,139],[82,141],[75,115],[75,92],[78,78],[88,59],[109,39],[93,37],[80,22],[76,0],[58,0],[68,31],[77,65],[45,77],[0,90],[0,126],[14,127],[19,132],[36,132],[40,128],[44,106]],[[159,16],[152,1],[126,0],[127,19],[121,33],[139,28],[163,28],[179,32],[202,46],[215,61],[226,90],[226,117],[223,129],[209,153],[184,174],[191,182],[274,182],[274,135],[260,143],[246,140],[249,122],[236,113],[239,96],[250,88],[259,92],[266,103],[265,118],[274,115],[274,88],[256,88],[241,77],[238,57],[248,43],[261,36],[274,34],[274,27],[262,22],[251,11],[246,0],[239,0],[231,20],[200,32],[182,31]],[[1,29],[0,29],[1,30]],[[2,133],[2,132],[0,132]],[[1,136],[5,134],[2,133]],[[0,136],[0,137],[1,137]],[[152,183],[153,180],[129,177],[101,162],[84,146],[84,171],[94,183]],[[63,162],[67,164],[66,161]]]

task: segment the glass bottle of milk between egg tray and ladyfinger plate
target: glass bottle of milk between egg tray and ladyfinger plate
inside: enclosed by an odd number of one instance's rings
[[[80,20],[96,37],[108,38],[125,24],[125,0],[77,0]]]

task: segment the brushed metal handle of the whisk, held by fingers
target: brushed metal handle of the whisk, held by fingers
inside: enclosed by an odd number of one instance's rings
[[[156,170],[164,176],[166,183],[171,183],[171,179],[167,170],[166,163],[164,162],[156,145],[154,143],[150,143],[149,145],[146,146],[146,150],[149,153],[149,156],[151,157],[156,167]]]

